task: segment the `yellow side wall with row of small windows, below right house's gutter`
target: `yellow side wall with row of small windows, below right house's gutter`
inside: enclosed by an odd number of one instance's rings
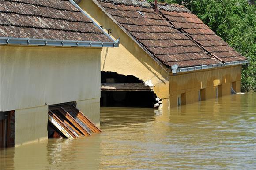
[[[196,72],[178,73],[171,75],[170,81],[170,106],[177,106],[177,96],[186,93],[186,104],[197,102],[200,89],[205,89],[205,98],[216,98],[222,91],[222,96],[230,95],[231,84],[236,82],[236,92],[240,92],[241,65],[233,67],[215,68]],[[221,86],[220,86],[221,85]]]

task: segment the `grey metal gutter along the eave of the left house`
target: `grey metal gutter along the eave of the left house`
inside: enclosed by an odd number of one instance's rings
[[[29,38],[0,37],[1,45],[39,45],[39,46],[69,46],[69,47],[118,47],[118,43],[72,40],[47,40]]]

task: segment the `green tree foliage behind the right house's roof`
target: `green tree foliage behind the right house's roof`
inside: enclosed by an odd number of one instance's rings
[[[218,36],[247,57],[243,67],[242,91],[256,91],[256,6],[247,0],[165,0],[184,5]]]

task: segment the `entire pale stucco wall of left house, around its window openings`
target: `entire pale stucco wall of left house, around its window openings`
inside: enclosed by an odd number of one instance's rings
[[[0,47],[0,110],[15,110],[15,146],[47,138],[48,105],[77,101],[99,126],[100,51]]]

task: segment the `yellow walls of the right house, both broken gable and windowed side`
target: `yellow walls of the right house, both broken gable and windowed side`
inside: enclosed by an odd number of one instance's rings
[[[178,76],[171,76],[94,2],[81,1],[79,6],[99,25],[104,28],[111,28],[111,36],[114,39],[120,37],[120,46],[118,48],[103,48],[101,70],[117,72],[123,75],[134,75],[144,82],[151,80],[154,85],[154,92],[159,98],[163,99],[164,108],[168,108],[169,105],[172,107],[177,106],[177,96],[182,93],[186,93],[186,104],[198,101],[200,88],[206,88],[206,99],[215,98],[218,85],[222,85],[222,95],[230,94],[230,87],[233,81],[236,81],[236,90],[240,91],[241,65],[224,69],[216,68],[179,73]]]

